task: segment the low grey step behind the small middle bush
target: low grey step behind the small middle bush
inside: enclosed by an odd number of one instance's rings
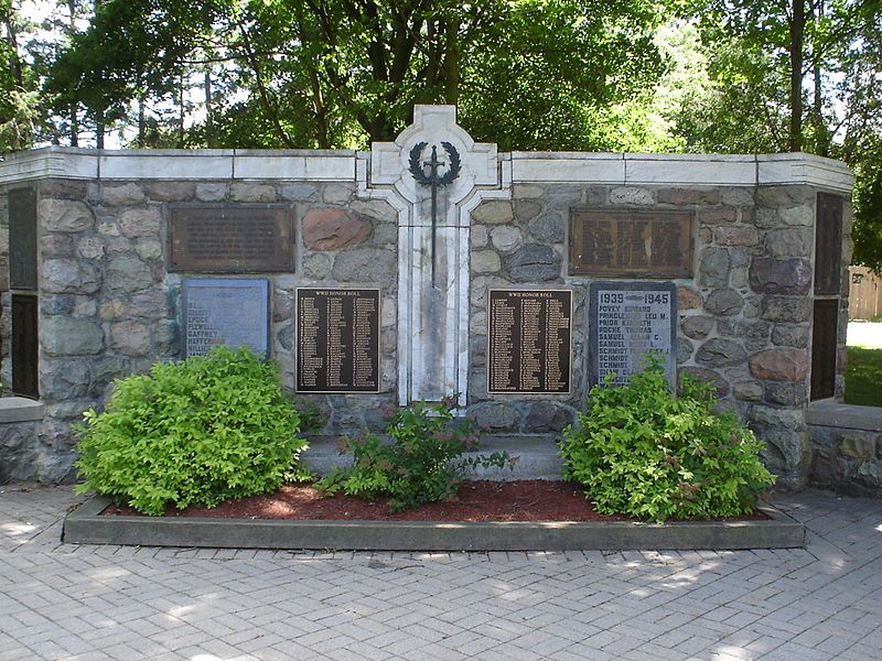
[[[352,455],[340,454],[338,436],[309,435],[309,449],[302,458],[310,470],[319,475],[327,475],[334,466],[347,466]],[[466,476],[472,479],[491,479],[509,481],[516,479],[560,479],[563,464],[558,455],[557,436],[551,434],[508,434],[486,435],[475,452],[465,453],[465,457],[490,455],[494,452],[507,452],[516,460],[505,468],[470,469]]]

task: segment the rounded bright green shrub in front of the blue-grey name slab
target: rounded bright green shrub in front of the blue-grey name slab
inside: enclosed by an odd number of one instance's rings
[[[302,475],[306,442],[272,362],[249,349],[160,362],[120,379],[104,413],[76,430],[84,484],[146,514],[214,507]]]

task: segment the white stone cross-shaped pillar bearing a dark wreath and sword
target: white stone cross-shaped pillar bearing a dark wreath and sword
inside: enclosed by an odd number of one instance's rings
[[[362,159],[359,191],[398,212],[399,403],[455,392],[464,405],[471,210],[509,196],[510,169],[499,166],[495,144],[475,143],[456,124],[453,106],[413,115],[395,142]]]

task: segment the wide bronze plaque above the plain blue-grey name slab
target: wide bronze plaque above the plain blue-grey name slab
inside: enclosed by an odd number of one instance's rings
[[[294,270],[293,223],[288,206],[173,206],[169,242],[169,271],[266,273]]]

